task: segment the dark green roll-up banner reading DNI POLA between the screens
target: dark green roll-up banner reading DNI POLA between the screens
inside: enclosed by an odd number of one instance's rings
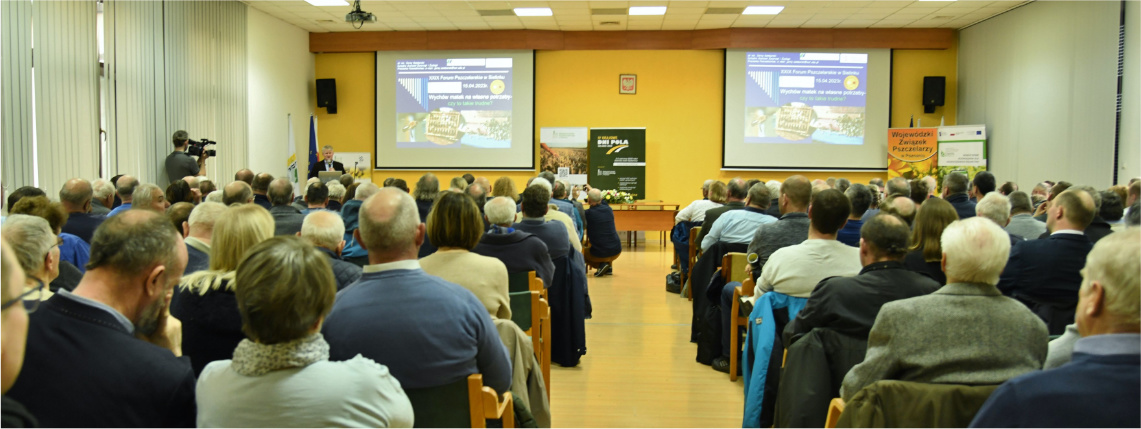
[[[591,187],[646,199],[646,128],[591,128]]]

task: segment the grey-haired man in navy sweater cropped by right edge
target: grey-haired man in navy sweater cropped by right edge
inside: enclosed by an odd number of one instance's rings
[[[1076,316],[1082,339],[1073,345],[1073,361],[1003,383],[971,427],[1141,427],[1139,273],[1141,229],[1099,241],[1082,273]]]

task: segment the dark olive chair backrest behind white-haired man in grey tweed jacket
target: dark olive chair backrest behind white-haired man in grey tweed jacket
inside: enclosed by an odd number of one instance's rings
[[[965,428],[998,386],[880,380],[844,404],[840,428]]]

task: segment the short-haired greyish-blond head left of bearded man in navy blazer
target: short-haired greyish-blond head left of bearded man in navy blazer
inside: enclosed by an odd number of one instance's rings
[[[7,251],[27,273],[24,291],[40,289],[35,299],[51,298],[48,284],[59,275],[60,240],[48,221],[35,216],[11,214],[5,219],[0,234],[8,242]]]

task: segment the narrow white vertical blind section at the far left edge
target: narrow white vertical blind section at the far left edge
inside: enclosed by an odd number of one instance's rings
[[[0,1],[0,170],[7,193],[34,181],[31,23],[31,1]]]

